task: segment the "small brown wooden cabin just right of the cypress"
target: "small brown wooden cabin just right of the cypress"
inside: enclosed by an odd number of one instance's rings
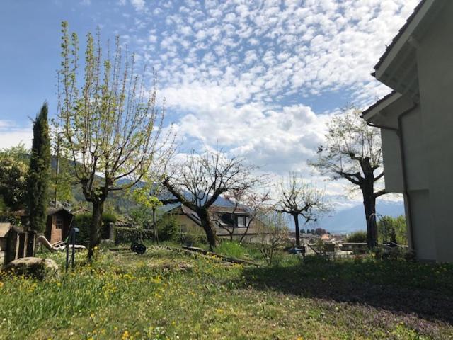
[[[64,207],[47,208],[45,237],[52,244],[66,239],[73,220],[74,215]]]

